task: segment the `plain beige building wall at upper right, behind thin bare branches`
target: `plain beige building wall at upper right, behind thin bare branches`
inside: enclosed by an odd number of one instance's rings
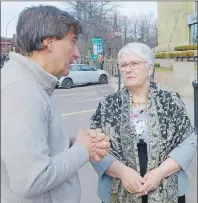
[[[193,14],[195,2],[158,2],[158,47],[156,51],[167,51],[175,46],[189,44],[187,16]]]

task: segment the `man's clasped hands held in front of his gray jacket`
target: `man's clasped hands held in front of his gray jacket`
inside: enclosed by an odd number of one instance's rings
[[[75,142],[83,144],[89,151],[89,159],[97,162],[108,155],[110,150],[110,139],[101,129],[80,131]]]

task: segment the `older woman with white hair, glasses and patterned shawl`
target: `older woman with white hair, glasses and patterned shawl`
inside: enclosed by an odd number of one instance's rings
[[[118,62],[125,87],[92,117],[91,127],[111,139],[111,155],[92,162],[98,194],[105,203],[184,203],[185,170],[197,147],[184,103],[177,93],[151,87],[154,56],[147,45],[127,44]]]

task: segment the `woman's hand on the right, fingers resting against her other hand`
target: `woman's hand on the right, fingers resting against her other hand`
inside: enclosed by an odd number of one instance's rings
[[[140,197],[148,192],[155,190],[164,178],[163,172],[159,168],[149,171],[143,177],[145,184],[137,190],[136,195]]]

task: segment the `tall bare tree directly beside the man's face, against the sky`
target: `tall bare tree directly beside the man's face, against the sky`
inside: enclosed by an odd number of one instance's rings
[[[108,33],[112,31],[111,13],[114,7],[110,1],[70,1],[72,14],[80,21],[83,34],[80,41],[84,42],[88,57],[91,58],[93,37],[103,39],[104,45],[108,40]],[[80,42],[81,43],[81,42]]]

